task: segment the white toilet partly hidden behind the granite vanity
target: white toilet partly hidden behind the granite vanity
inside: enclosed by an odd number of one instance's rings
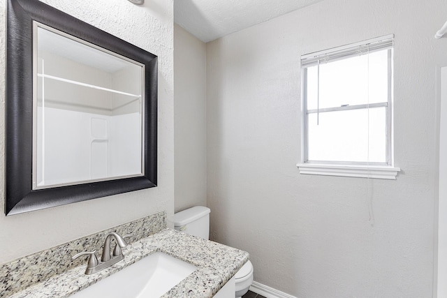
[[[174,214],[175,230],[185,232],[203,239],[210,238],[210,208],[192,207]],[[235,297],[240,298],[248,292],[253,281],[253,265],[247,261],[235,274]]]

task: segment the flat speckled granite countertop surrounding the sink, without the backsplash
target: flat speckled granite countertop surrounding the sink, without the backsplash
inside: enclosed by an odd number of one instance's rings
[[[123,248],[124,260],[96,274],[84,274],[87,266],[85,262],[82,266],[54,275],[10,297],[69,297],[156,251],[167,253],[198,267],[166,292],[163,298],[213,297],[249,259],[247,252],[237,248],[165,228]]]

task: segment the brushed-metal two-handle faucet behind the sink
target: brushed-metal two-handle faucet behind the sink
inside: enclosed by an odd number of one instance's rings
[[[124,237],[119,236],[119,234],[115,232],[110,232],[106,237],[104,241],[103,246],[103,255],[101,256],[101,262],[98,261],[98,258],[96,258],[96,251],[85,251],[82,253],[78,253],[76,255],[73,255],[72,260],[75,260],[76,258],[79,258],[82,255],[90,255],[89,261],[87,263],[87,269],[85,269],[85,274],[94,274],[102,269],[105,269],[107,267],[110,267],[114,265],[115,263],[121,261],[124,259],[124,255],[122,253],[121,248],[126,247],[126,241],[124,241],[124,238],[128,237],[129,235],[126,235]],[[113,249],[112,255],[110,255],[110,239],[112,237],[115,237],[117,240],[117,245]]]

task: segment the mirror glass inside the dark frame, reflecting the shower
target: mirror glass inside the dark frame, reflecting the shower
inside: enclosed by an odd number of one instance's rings
[[[136,177],[144,66],[34,22],[33,189]]]

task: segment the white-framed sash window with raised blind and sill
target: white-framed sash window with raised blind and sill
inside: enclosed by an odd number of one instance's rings
[[[307,54],[301,66],[300,173],[395,179],[393,36]]]

